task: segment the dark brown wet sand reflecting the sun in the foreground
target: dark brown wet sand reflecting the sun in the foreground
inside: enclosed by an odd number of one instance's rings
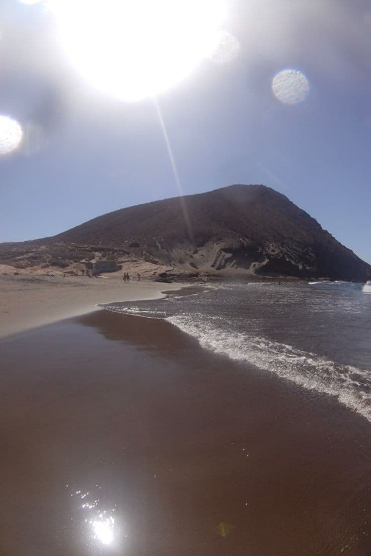
[[[2,556],[371,554],[371,425],[335,400],[105,311],[0,348]]]

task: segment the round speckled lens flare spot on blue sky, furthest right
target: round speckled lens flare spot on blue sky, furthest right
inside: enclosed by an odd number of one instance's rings
[[[308,96],[309,82],[298,69],[283,69],[274,76],[272,90],[279,101],[294,105]]]

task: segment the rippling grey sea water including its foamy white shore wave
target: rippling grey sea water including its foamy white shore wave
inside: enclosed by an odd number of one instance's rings
[[[335,396],[371,421],[371,295],[362,284],[220,284],[106,309],[166,319],[207,350]]]

